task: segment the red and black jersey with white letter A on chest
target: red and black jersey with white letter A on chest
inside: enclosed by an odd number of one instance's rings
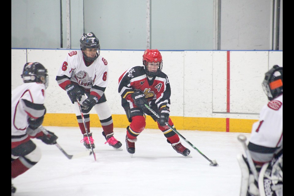
[[[124,110],[136,107],[131,94],[135,91],[144,92],[149,105],[157,108],[170,107],[171,87],[168,76],[160,72],[152,79],[146,76],[144,66],[134,66],[119,77],[119,95],[122,97]]]

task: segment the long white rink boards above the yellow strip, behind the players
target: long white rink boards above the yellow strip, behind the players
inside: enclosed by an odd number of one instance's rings
[[[22,84],[26,62],[40,62],[49,74],[47,113],[74,113],[72,104],[55,81],[65,49],[11,49],[11,89]],[[258,119],[267,98],[261,83],[274,64],[282,66],[282,51],[230,51],[230,112],[226,113],[227,51],[161,51],[163,71],[171,84],[171,115]],[[129,67],[142,65],[143,51],[100,51],[109,66],[105,91],[113,114],[125,114],[118,94],[118,78]],[[270,63],[269,63],[270,62]],[[91,111],[91,113],[95,113]]]

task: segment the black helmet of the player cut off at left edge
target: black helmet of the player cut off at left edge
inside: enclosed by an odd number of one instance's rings
[[[48,87],[47,69],[39,62],[28,62],[24,66],[21,77],[25,83],[39,82]]]

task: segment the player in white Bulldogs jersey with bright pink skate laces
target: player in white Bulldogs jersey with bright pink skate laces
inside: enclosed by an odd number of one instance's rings
[[[81,50],[71,51],[62,62],[56,81],[67,92],[72,104],[74,104],[77,121],[83,134],[86,148],[91,145],[95,148],[92,132],[90,132],[90,115],[95,109],[106,143],[114,149],[122,150],[122,143],[114,138],[111,110],[105,97],[105,89],[108,82],[108,65],[105,58],[100,56],[100,44],[94,33],[83,33],[80,39]],[[77,99],[81,101],[81,110],[88,129],[89,138],[85,130]],[[90,141],[89,141],[90,139]]]

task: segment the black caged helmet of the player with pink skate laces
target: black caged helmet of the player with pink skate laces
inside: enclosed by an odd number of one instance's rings
[[[83,52],[83,56],[85,60],[87,61],[94,61],[97,59],[100,55],[100,44],[98,38],[94,35],[94,33],[89,32],[89,33],[83,33],[80,39],[80,44],[81,44],[81,51]],[[86,48],[96,48],[97,53],[95,57],[88,57],[85,54]]]

